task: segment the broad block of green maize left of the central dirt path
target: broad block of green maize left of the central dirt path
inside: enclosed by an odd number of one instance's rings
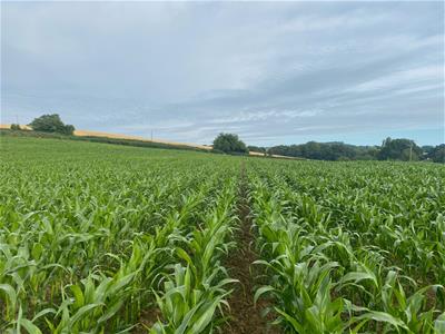
[[[178,316],[160,301],[175,297],[178,266],[194,282],[196,304],[185,305],[199,304],[200,331],[221,321],[233,284],[220,261],[237,222],[236,159],[2,139],[1,333],[144,331],[157,310],[167,331]]]

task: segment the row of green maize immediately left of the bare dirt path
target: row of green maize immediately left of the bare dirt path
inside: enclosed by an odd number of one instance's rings
[[[162,320],[151,333],[201,333],[217,324],[215,317],[228,306],[227,285],[235,283],[227,275],[220,258],[227,254],[233,235],[236,184],[230,179],[218,195],[216,206],[202,223],[180,239],[176,248],[178,261],[166,275],[162,295],[157,295]],[[216,314],[218,313],[218,314]]]

